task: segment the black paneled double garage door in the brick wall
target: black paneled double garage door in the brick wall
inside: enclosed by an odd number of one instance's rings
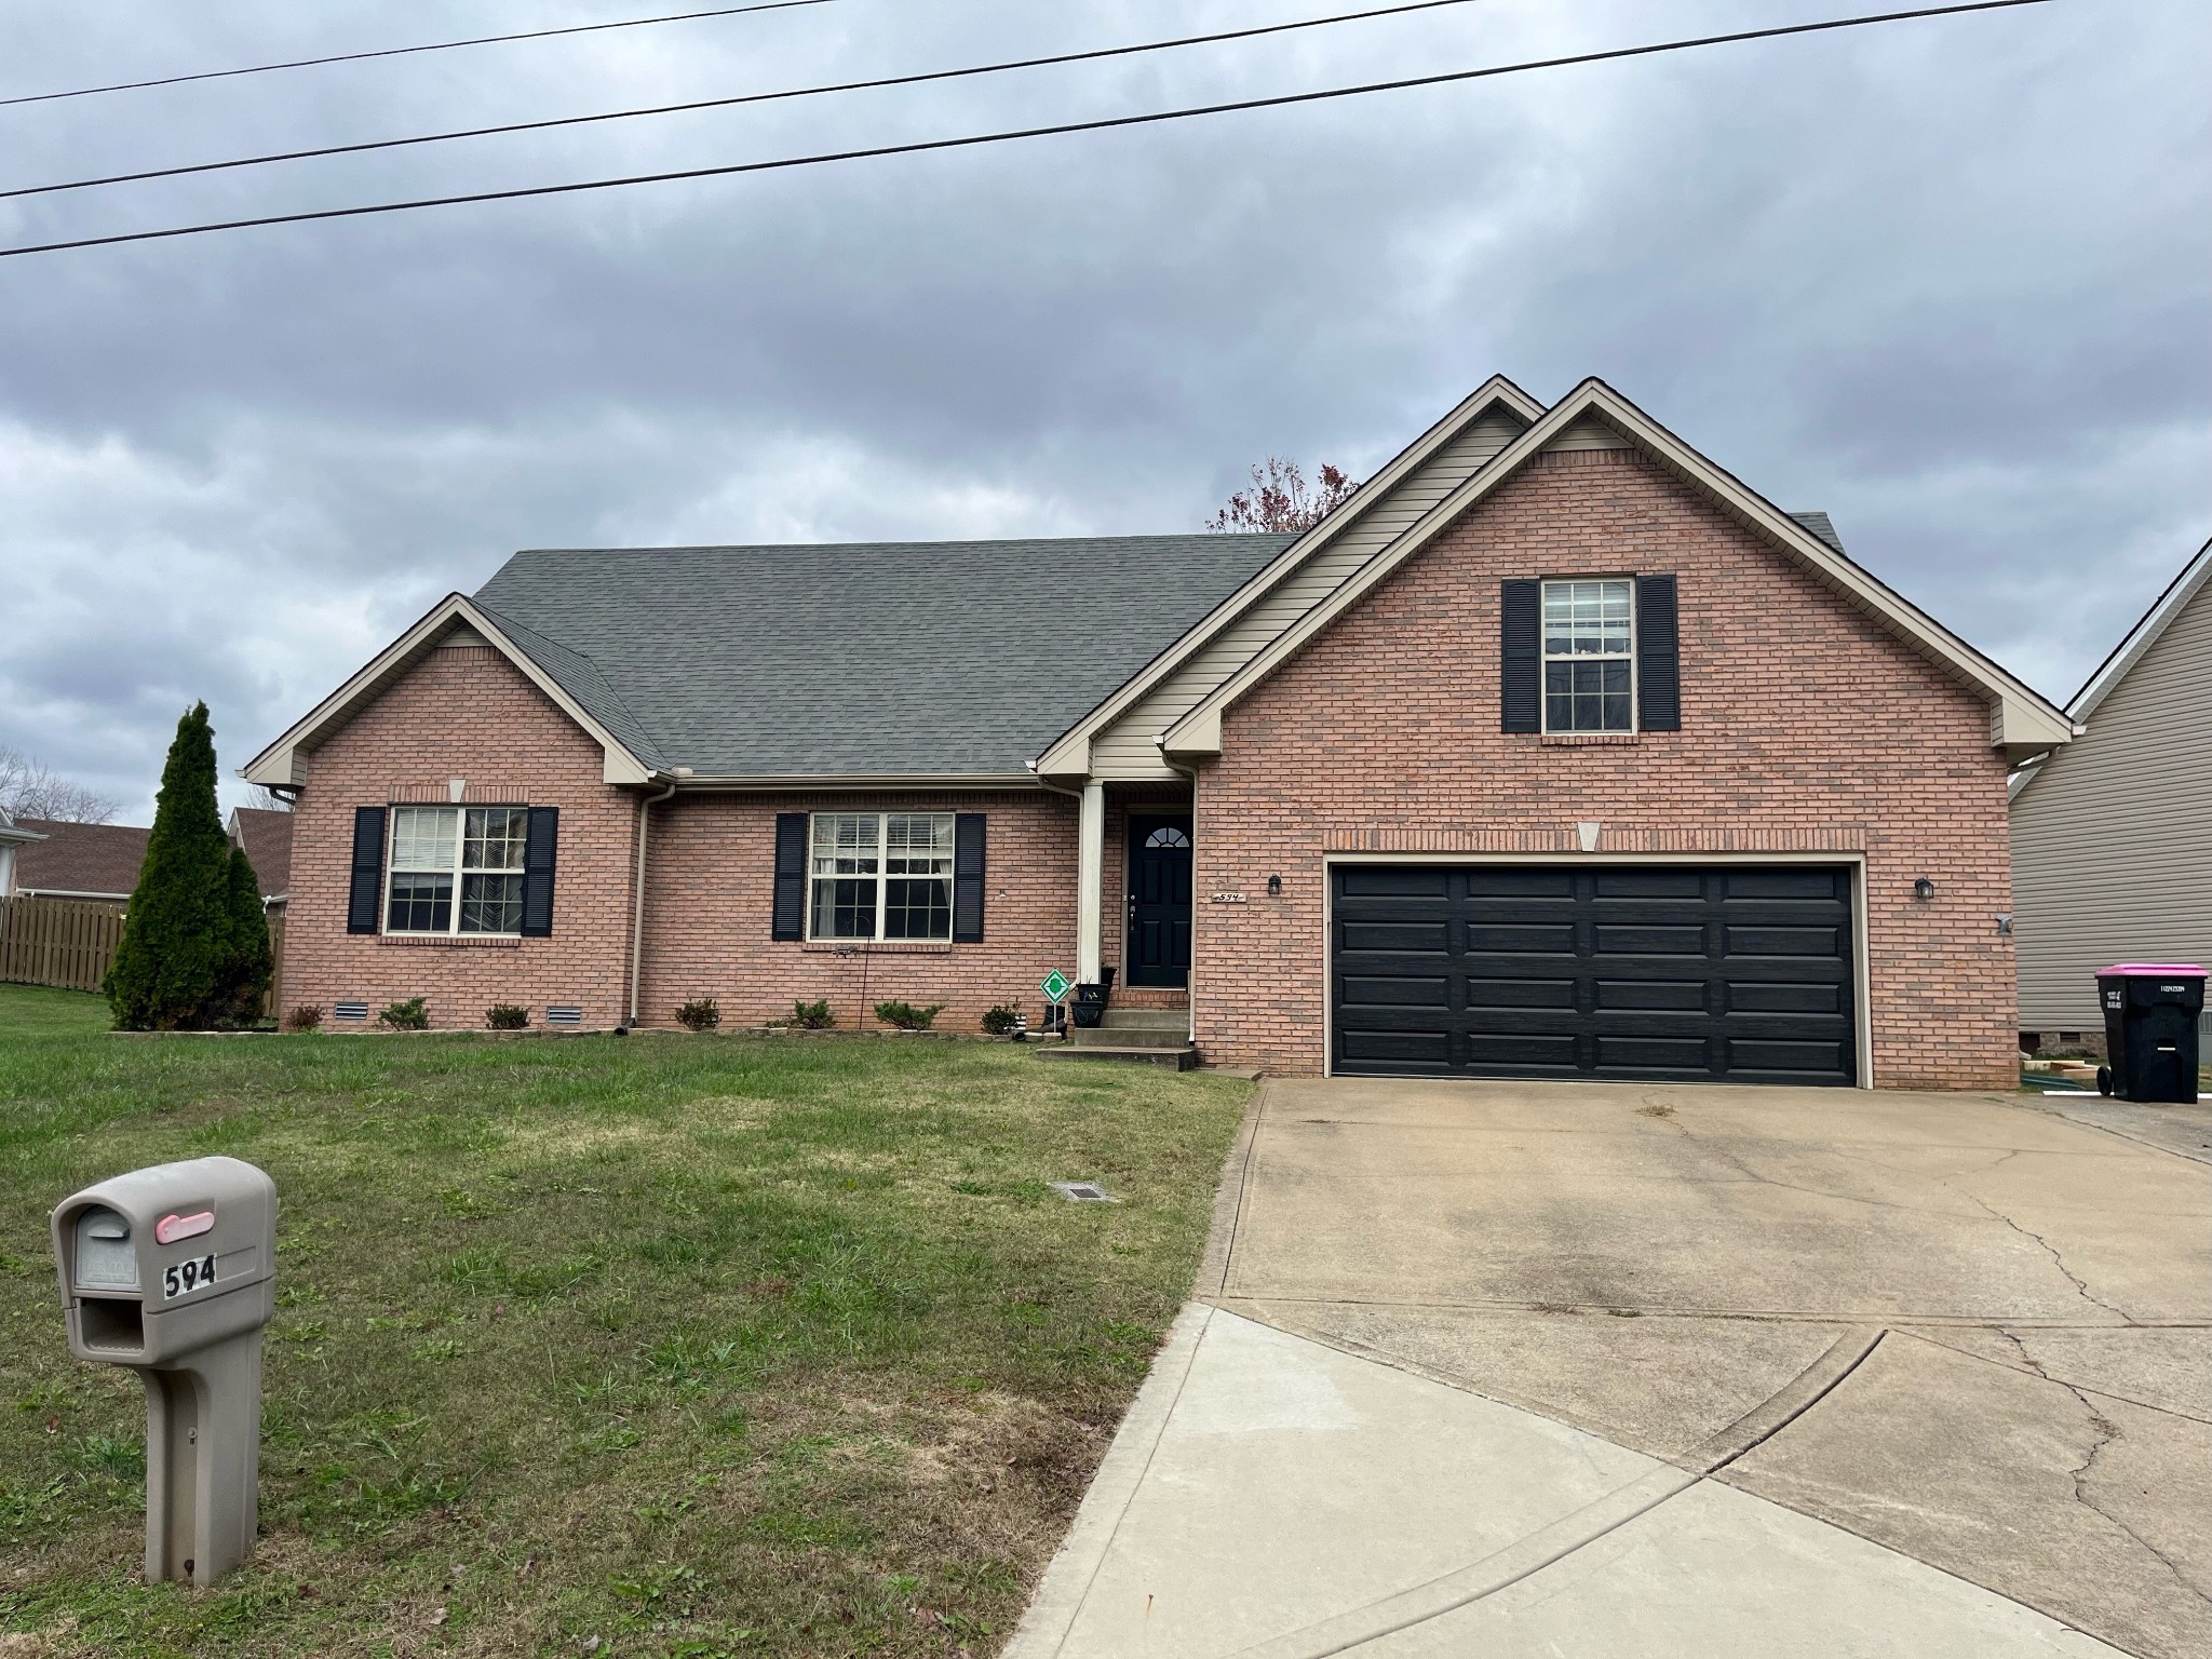
[[[1856,1082],[1851,872],[1336,865],[1340,1075]]]

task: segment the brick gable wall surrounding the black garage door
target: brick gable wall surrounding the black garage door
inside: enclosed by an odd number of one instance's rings
[[[1681,730],[1500,732],[1500,580],[1635,573],[1681,584]],[[1323,1068],[1327,854],[1571,858],[1597,821],[1601,852],[1863,854],[1874,1082],[2008,1088],[2004,772],[1978,692],[1703,495],[1635,451],[1542,456],[1230,710],[1199,774],[1199,1044]]]

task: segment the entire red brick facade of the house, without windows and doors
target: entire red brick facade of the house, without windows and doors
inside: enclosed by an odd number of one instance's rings
[[[1681,730],[1500,732],[1500,580],[1637,573],[1679,577]],[[1323,1071],[1329,856],[1571,860],[1575,825],[1597,821],[1604,856],[1863,860],[1871,1082],[2008,1086],[2004,774],[1978,690],[1701,493],[1637,451],[1542,456],[1228,712],[1194,805],[1199,1046],[1219,1064]],[[354,807],[447,801],[449,779],[469,803],[562,810],[551,938],[345,933]],[[1108,964],[1124,945],[1126,816],[1177,799],[1175,785],[1108,787]],[[431,650],[307,757],[288,1004],[425,995],[434,1026],[482,1026],[491,1002],[624,1022],[637,801],[495,650]],[[984,812],[984,942],[838,953],[774,940],[774,821],[799,810]],[[1913,898],[1920,876],[1933,902]],[[684,792],[650,807],[639,1018],[668,1026],[692,998],[714,998],[728,1026],[818,998],[843,1029],[885,1000],[940,1002],[947,1031],[973,1031],[993,1002],[1035,1018],[1037,980],[1075,971],[1075,889],[1077,805],[1060,792]],[[1223,889],[1248,902],[1210,905]]]

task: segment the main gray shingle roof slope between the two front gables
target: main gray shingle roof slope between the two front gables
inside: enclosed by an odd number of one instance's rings
[[[1020,772],[1294,540],[540,549],[476,602],[653,768]]]

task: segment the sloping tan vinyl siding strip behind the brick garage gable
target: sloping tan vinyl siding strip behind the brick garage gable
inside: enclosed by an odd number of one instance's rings
[[[1416,467],[1367,509],[1356,524],[1321,546],[1296,571],[1276,582],[1237,622],[1223,628],[1175,675],[1146,692],[1121,719],[1091,741],[1095,779],[1181,776],[1159,757],[1157,737],[1256,657],[1267,641],[1290,628],[1340,588],[1389,546],[1422,513],[1471,478],[1500,449],[1522,436],[1526,422],[1500,409],[1467,425],[1429,460]],[[1615,438],[1615,442],[1619,442]]]

